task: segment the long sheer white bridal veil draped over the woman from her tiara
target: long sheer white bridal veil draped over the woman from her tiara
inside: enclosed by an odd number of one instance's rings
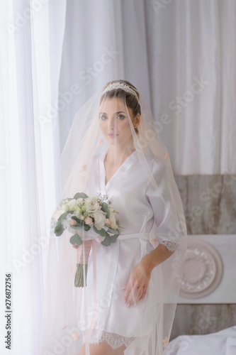
[[[74,117],[61,155],[61,196],[51,219],[40,355],[78,355],[89,344],[123,346],[125,355],[167,354],[186,254],[186,223],[167,148],[152,111],[130,82],[99,89]],[[109,167],[109,168],[108,168]],[[74,230],[56,236],[63,200],[106,195],[118,212],[116,242],[91,228],[86,287],[74,285]],[[127,307],[130,274],[157,245],[174,251],[152,270],[143,300]],[[84,255],[83,255],[84,256]],[[83,258],[85,270],[85,256]],[[85,271],[84,271],[85,275]]]

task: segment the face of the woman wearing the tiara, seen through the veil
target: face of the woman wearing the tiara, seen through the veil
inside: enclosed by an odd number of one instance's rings
[[[128,112],[133,121],[133,112],[129,107]],[[127,109],[118,97],[102,102],[99,111],[99,126],[110,144],[125,145],[133,141]]]

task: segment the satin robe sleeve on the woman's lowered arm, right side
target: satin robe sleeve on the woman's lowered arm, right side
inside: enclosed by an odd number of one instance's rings
[[[153,212],[154,237],[159,244],[164,244],[169,251],[178,249],[181,239],[179,229],[179,190],[162,160],[154,159],[152,164],[154,183],[147,186],[146,195]],[[155,186],[154,186],[155,185]],[[178,197],[176,198],[176,194]]]

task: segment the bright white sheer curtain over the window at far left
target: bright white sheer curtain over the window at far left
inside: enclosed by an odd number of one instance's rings
[[[0,13],[0,353],[33,355],[40,339],[47,229],[59,185],[58,121],[48,112],[57,99],[65,1],[8,0]],[[9,273],[11,309],[5,312]],[[5,343],[8,314],[11,351]]]

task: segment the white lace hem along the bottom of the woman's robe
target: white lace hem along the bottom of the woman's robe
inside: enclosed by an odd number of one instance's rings
[[[118,347],[125,345],[128,347],[135,337],[123,337],[120,334],[110,333],[105,331],[98,332],[97,329],[93,329],[89,339],[89,344],[99,344],[104,340],[111,346],[112,349],[117,349]]]

